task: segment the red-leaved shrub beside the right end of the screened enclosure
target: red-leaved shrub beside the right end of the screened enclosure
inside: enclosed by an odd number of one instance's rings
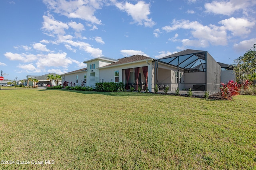
[[[229,81],[228,83],[224,84],[221,83],[222,87],[220,87],[221,96],[227,100],[232,100],[233,96],[239,94],[238,84],[233,80]]]

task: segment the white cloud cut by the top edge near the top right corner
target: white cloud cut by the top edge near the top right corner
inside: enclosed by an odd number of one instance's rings
[[[254,0],[228,0],[217,1],[204,4],[206,12],[213,14],[222,14],[230,16],[237,10],[246,11],[250,5],[255,4]]]

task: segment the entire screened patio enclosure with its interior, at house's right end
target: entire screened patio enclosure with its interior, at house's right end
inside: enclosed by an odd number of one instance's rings
[[[159,90],[200,90],[216,93],[220,88],[221,66],[207,51],[186,49],[154,63],[154,82]]]

